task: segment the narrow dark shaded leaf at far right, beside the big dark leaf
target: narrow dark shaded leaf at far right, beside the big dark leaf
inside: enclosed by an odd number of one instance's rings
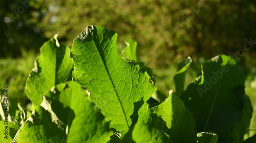
[[[232,138],[234,143],[243,142],[244,135],[247,132],[247,128],[250,124],[250,119],[252,118],[253,108],[251,106],[250,98],[245,95],[244,108],[243,108],[243,117],[241,121],[236,123],[231,131]]]

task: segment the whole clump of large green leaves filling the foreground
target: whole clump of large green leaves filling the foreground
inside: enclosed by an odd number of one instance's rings
[[[243,70],[230,57],[219,55],[207,61],[202,75],[183,91],[191,63],[186,59],[174,76],[176,94],[170,91],[162,102],[160,94],[152,98],[159,92],[152,71],[137,62],[135,42],[126,41],[122,56],[116,40],[114,31],[88,26],[71,50],[59,44],[57,36],[46,42],[26,82],[25,91],[33,103],[31,115],[16,120],[20,127],[9,123],[9,139],[3,141],[256,140],[256,135],[243,139],[252,107],[244,90]]]

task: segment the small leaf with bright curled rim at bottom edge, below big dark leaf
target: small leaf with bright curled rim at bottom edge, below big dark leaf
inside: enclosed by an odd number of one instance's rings
[[[201,132],[197,134],[198,143],[217,143],[218,136],[215,132]]]

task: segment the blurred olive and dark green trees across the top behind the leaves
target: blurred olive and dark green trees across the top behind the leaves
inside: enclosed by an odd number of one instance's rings
[[[45,38],[56,33],[61,42],[71,46],[87,25],[112,28],[120,35],[121,46],[125,39],[135,39],[141,60],[156,68],[189,55],[209,59],[220,53],[232,54],[243,48],[245,39],[256,37],[256,4],[252,0],[36,0],[19,13],[22,9],[18,7],[27,2],[1,2],[2,57],[16,56],[20,48],[38,49]],[[252,56],[255,48],[245,54]]]

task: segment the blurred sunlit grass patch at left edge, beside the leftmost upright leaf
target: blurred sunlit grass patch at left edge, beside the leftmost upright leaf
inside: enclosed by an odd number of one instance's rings
[[[26,79],[34,67],[36,56],[34,52],[22,50],[20,58],[0,59],[0,89],[8,86],[9,113],[13,117],[18,109],[17,103],[26,108],[29,102],[24,89]]]

